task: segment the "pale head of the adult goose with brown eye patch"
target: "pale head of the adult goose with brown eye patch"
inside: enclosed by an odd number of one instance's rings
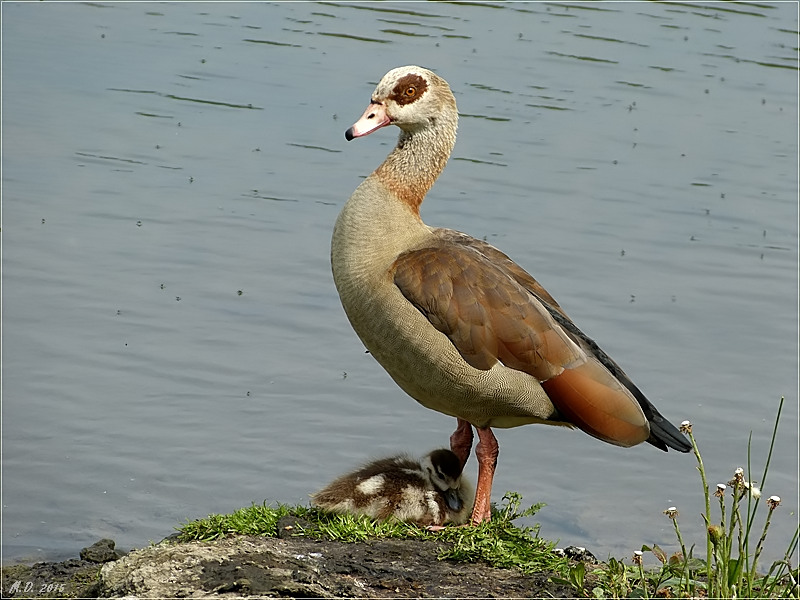
[[[378,83],[361,118],[345,132],[350,141],[381,127],[397,125],[407,133],[435,127],[440,120],[458,120],[456,100],[447,82],[428,69],[392,69]]]

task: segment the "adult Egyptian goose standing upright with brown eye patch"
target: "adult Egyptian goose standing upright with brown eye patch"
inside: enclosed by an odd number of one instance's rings
[[[488,243],[429,227],[419,207],[456,141],[447,82],[416,66],[389,71],[348,140],[400,128],[397,146],[336,220],[333,278],[369,352],[423,406],[452,415],[462,465],[475,427],[472,522],[490,518],[498,445],[492,427],[578,427],[618,446],[688,452],[686,438],[525,270]]]

